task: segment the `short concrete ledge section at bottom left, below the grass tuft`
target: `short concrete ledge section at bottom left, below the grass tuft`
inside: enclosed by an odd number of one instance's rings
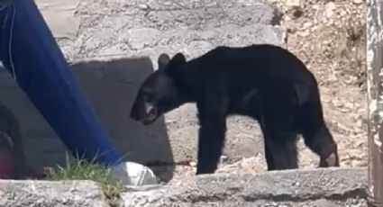
[[[91,181],[0,180],[1,207],[105,207],[103,193]]]

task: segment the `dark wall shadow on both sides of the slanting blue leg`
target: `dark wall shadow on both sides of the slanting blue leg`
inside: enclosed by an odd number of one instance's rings
[[[150,58],[90,60],[75,63],[72,68],[125,161],[149,166],[174,163],[163,116],[150,126],[129,118],[138,88],[153,72]],[[20,121],[27,163],[31,166],[64,165],[65,147],[5,70],[0,70],[0,94]],[[159,173],[162,179],[169,180],[173,167]]]

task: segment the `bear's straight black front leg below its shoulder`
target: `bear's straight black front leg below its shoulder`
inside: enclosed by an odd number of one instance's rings
[[[219,96],[197,103],[200,128],[196,175],[213,174],[219,164],[226,133],[225,103]]]

